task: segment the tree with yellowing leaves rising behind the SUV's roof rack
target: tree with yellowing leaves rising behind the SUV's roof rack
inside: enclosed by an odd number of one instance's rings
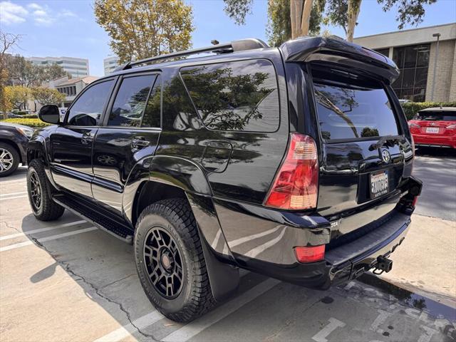
[[[191,46],[192,6],[183,0],[95,0],[94,11],[121,63]]]

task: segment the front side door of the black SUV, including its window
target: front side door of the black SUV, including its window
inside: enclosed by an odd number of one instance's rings
[[[51,134],[51,173],[65,190],[92,198],[93,139],[103,118],[115,78],[88,86],[73,102],[66,120]]]

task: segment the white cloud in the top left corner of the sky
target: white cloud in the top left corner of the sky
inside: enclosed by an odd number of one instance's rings
[[[56,13],[49,6],[43,6],[35,2],[31,2],[26,6],[13,4],[11,1],[0,2],[1,24],[21,24],[27,20],[33,20],[33,23],[37,26],[51,26],[58,18],[78,18],[78,16],[68,9],[63,9]]]

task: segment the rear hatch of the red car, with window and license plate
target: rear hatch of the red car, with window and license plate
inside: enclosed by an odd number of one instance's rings
[[[410,120],[410,132],[413,134],[425,134],[446,136],[456,133],[456,108],[455,110],[438,109],[422,110]]]

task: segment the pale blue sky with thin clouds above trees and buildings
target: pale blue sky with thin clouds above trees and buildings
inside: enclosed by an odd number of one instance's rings
[[[267,41],[267,0],[254,0],[247,24],[237,26],[224,14],[222,0],[185,0],[193,7],[195,31],[193,47],[240,38]],[[355,37],[396,31],[396,9],[384,13],[377,0],[363,0]],[[456,0],[437,0],[425,6],[425,18],[418,27],[448,24],[456,21]],[[414,26],[406,26],[413,28]],[[344,37],[340,27],[324,27]],[[103,76],[103,58],[113,56],[109,36],[98,26],[91,0],[1,1],[0,30],[21,34],[19,46],[12,53],[23,56],[68,56],[89,59],[90,75]]]

